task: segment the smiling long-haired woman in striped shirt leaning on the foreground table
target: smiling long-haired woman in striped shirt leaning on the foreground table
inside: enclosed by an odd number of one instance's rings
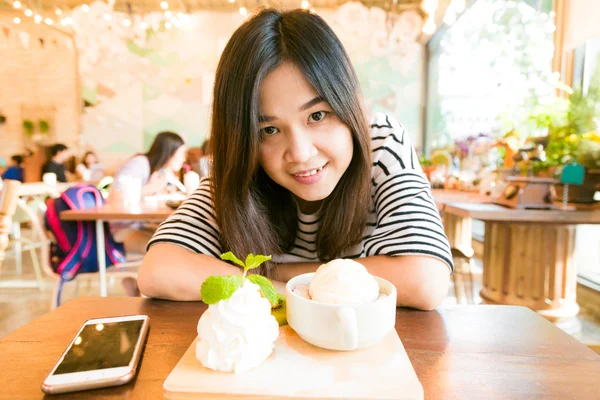
[[[355,258],[397,287],[398,305],[435,308],[452,261],[429,183],[397,122],[380,114],[370,126],[319,16],[265,10],[245,22],[217,69],[212,179],[154,235],[142,293],[198,300],[208,276],[241,273],[218,258],[233,251],[272,255],[262,272],[280,291],[324,261]]]

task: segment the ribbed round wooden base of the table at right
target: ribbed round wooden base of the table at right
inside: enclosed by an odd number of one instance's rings
[[[577,315],[575,228],[486,221],[481,298],[529,307],[553,322]]]

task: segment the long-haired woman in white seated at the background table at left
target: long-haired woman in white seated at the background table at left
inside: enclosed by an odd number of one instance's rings
[[[150,150],[130,158],[115,174],[109,202],[122,204],[130,200],[132,190],[137,191],[137,201],[168,190],[169,182],[176,178],[185,161],[186,147],[183,139],[173,132],[161,132],[154,138]],[[139,185],[135,188],[135,185]],[[117,242],[125,245],[128,253],[144,254],[154,233],[140,223],[112,223],[111,233]]]

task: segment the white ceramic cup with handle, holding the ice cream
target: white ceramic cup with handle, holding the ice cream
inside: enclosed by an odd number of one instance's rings
[[[387,297],[364,304],[324,304],[293,292],[314,273],[298,275],[285,286],[287,320],[308,343],[330,350],[355,350],[379,342],[396,324],[396,287],[375,277]]]

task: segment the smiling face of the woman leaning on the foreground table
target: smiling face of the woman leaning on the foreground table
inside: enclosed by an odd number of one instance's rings
[[[304,212],[313,212],[350,165],[350,128],[291,63],[264,79],[260,110],[260,165]]]

